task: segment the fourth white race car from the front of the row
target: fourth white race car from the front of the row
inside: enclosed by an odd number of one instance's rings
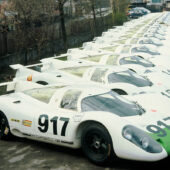
[[[169,56],[167,55],[160,55],[152,45],[132,45],[132,44],[125,44],[125,45],[98,45],[92,42],[84,43],[83,44],[84,51],[91,50],[91,51],[98,51],[98,52],[110,52],[116,53],[120,55],[139,55],[144,59],[151,61],[156,66],[167,67],[170,66]]]

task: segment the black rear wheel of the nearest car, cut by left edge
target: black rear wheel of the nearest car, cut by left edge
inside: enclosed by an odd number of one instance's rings
[[[0,112],[0,140],[9,140],[11,132],[6,116]]]

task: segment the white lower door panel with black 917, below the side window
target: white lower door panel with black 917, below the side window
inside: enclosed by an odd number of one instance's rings
[[[38,136],[49,142],[71,142],[73,116],[75,112],[56,109],[36,116],[35,128]]]

